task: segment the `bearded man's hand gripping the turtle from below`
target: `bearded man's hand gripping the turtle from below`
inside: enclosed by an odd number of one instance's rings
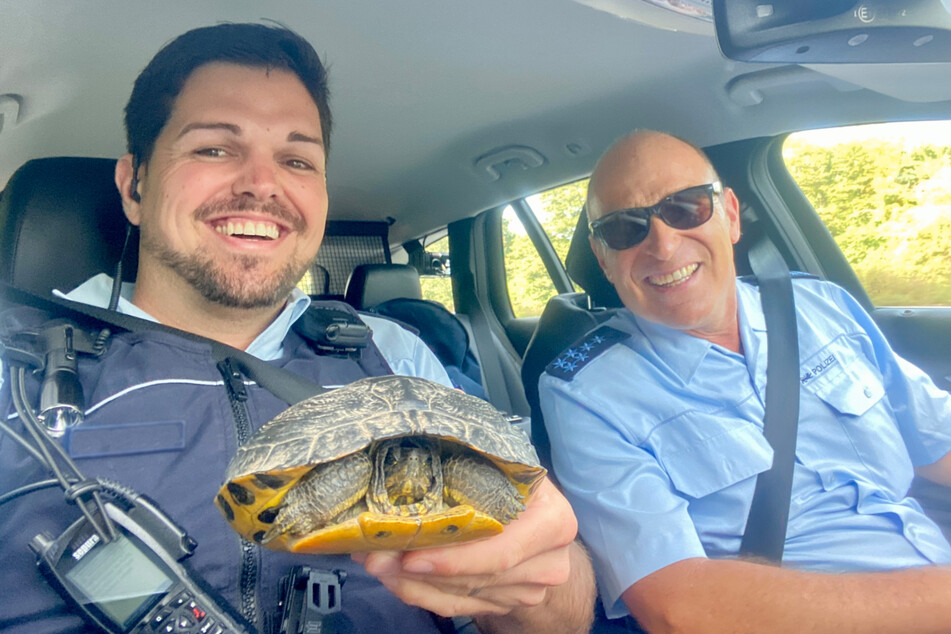
[[[546,478],[501,534],[353,559],[406,603],[443,616],[508,615],[480,619],[483,631],[587,631],[594,582],[587,555],[573,542],[576,531],[571,507]]]

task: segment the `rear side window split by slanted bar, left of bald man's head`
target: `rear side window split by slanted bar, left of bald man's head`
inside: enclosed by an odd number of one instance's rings
[[[571,236],[588,191],[587,179],[555,187],[525,199],[564,264]],[[538,250],[522,221],[510,206],[502,214],[505,274],[516,317],[541,315],[545,304],[558,294]]]

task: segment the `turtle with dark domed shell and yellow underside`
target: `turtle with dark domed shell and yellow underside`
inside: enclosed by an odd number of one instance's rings
[[[501,532],[545,473],[527,435],[486,401],[389,375],[265,423],[215,503],[238,534],[274,550],[414,550]]]

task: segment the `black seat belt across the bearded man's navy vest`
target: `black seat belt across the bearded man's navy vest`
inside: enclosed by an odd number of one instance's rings
[[[157,330],[167,332],[182,339],[198,341],[211,346],[212,357],[217,362],[229,359],[237,368],[249,379],[271,392],[274,396],[286,402],[288,405],[299,403],[300,401],[322,394],[327,391],[326,388],[305,379],[289,370],[273,366],[266,361],[248,354],[244,350],[239,350],[220,341],[208,339],[184,330],[172,328],[158,322],[147,319],[139,319],[131,315],[125,315],[118,311],[106,310],[98,306],[91,306],[58,297],[40,297],[26,291],[10,286],[6,282],[0,282],[0,298],[6,302],[30,306],[40,310],[53,313],[79,321],[88,321],[85,318],[92,318],[100,325],[116,326],[129,332],[142,332],[146,330]]]

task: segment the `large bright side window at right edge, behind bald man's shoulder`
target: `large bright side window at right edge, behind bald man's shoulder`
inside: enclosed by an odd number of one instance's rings
[[[951,122],[799,132],[783,157],[876,306],[951,306]]]

